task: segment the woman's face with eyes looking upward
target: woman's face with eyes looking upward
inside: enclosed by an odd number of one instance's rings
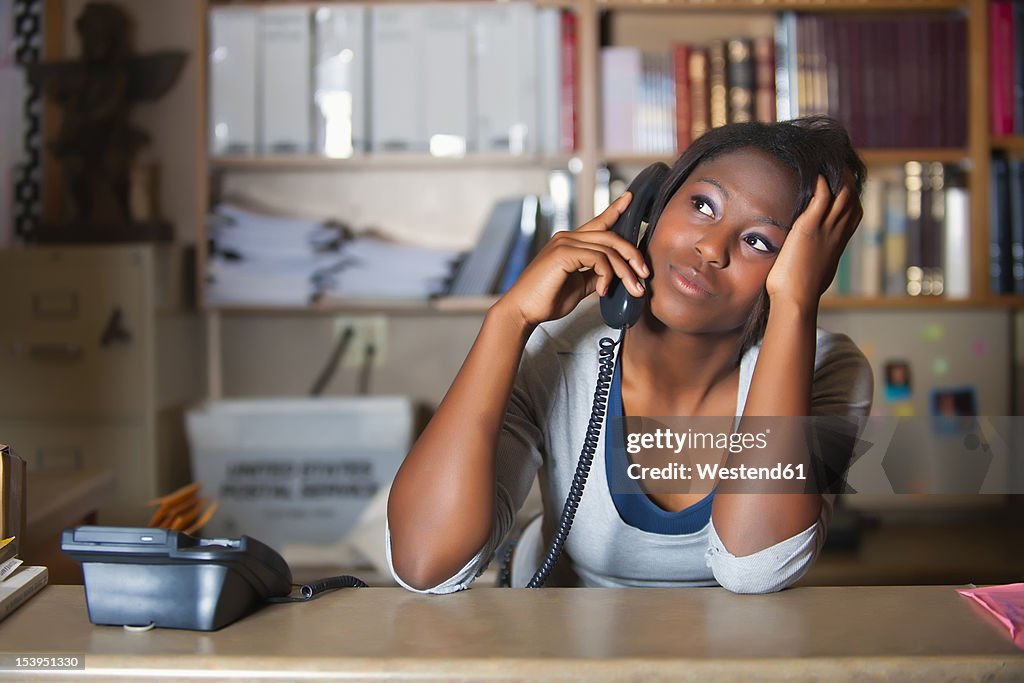
[[[744,148],[699,164],[666,206],[648,247],[653,315],[673,330],[739,330],[796,210],[797,177]]]

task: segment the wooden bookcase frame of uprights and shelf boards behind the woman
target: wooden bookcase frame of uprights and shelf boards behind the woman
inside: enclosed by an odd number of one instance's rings
[[[308,5],[325,3],[295,2],[226,2],[208,0],[202,12],[202,35],[206,35],[206,17],[211,6],[231,5]],[[237,173],[262,172],[354,172],[354,171],[410,171],[422,169],[465,170],[471,172],[484,167],[522,169],[524,172],[537,169],[571,168],[575,173],[577,215],[582,219],[593,215],[595,171],[604,165],[639,167],[653,161],[672,159],[647,155],[605,155],[600,139],[600,38],[602,17],[612,14],[612,22],[618,19],[640,27],[660,23],[671,24],[664,31],[674,38],[687,40],[686,27],[715,20],[723,24],[741,24],[760,27],[758,31],[770,31],[774,17],[781,11],[807,12],[904,12],[904,11],[963,11],[967,18],[967,145],[963,148],[887,148],[862,150],[861,154],[868,166],[894,165],[905,161],[941,162],[959,164],[968,170],[968,191],[971,206],[971,292],[969,299],[951,300],[944,297],[885,297],[826,298],[824,309],[933,309],[970,307],[1024,307],[1024,297],[992,296],[988,294],[988,166],[992,150],[1024,150],[1024,136],[993,137],[988,128],[988,2],[987,0],[534,0],[539,7],[560,7],[571,10],[577,16],[577,66],[578,66],[578,147],[572,155],[541,156],[467,156],[457,159],[432,158],[411,155],[366,155],[350,159],[328,159],[318,157],[273,157],[273,158],[216,158],[206,154],[206,138],[199,141],[202,147],[199,182],[203,183],[202,198],[204,212],[209,205],[210,178]],[[676,29],[683,29],[681,32]],[[752,35],[748,33],[746,35]],[[770,34],[769,34],[770,35]],[[654,36],[652,40],[657,40]],[[646,43],[642,43],[646,44]],[[205,46],[204,46],[205,47]],[[205,50],[204,50],[205,51]],[[205,109],[205,74],[201,79],[204,96],[200,105]],[[205,114],[204,114],[205,117]],[[578,220],[578,222],[581,222]],[[203,220],[200,221],[202,225]],[[202,274],[205,270],[206,244],[204,236],[199,240],[200,265],[198,268],[199,290],[203,291]],[[211,395],[219,395],[219,379],[216,369],[219,360],[214,358],[219,348],[219,321],[221,312],[308,312],[311,314],[336,312],[384,312],[402,313],[453,313],[482,312],[494,302],[493,297],[458,300],[441,298],[430,302],[380,302],[380,301],[337,301],[324,302],[298,309],[282,309],[264,306],[227,306],[208,309],[210,324],[211,351]]]

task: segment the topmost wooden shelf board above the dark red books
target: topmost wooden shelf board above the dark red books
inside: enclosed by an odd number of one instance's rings
[[[601,9],[694,11],[863,11],[959,9],[969,0],[597,0]]]

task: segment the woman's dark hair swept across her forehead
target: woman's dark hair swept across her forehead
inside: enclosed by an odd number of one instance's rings
[[[824,176],[834,196],[842,187],[847,171],[853,176],[858,196],[867,175],[864,162],[850,142],[850,135],[835,119],[813,116],[779,123],[733,123],[712,128],[694,140],[676,161],[654,200],[651,224],[657,225],[665,207],[693,169],[739,150],[758,150],[793,170],[797,179],[797,202],[796,210],[790,216],[791,224],[810,203],[819,175]],[[746,349],[764,337],[768,325],[768,293],[762,290],[736,349],[737,362]]]

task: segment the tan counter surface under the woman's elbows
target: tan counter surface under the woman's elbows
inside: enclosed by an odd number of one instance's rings
[[[947,586],[346,589],[213,633],[92,626],[81,587],[50,586],[0,651],[84,654],[92,680],[1024,680],[1024,650]]]

